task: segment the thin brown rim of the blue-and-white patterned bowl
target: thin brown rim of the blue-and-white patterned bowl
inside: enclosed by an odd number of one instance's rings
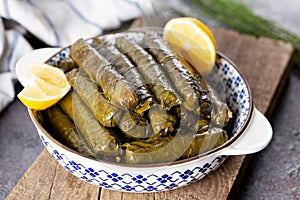
[[[97,36],[97,37],[101,37],[101,36]],[[89,40],[89,39],[87,39],[87,40]],[[48,60],[46,60],[45,63],[49,62],[49,60],[51,60],[55,55],[59,54],[60,52],[66,50],[69,47],[70,46],[61,48],[57,53],[55,53],[54,55],[51,55],[51,57]],[[34,112],[36,112],[35,110],[28,108],[28,112],[29,112],[31,120],[35,124],[36,128],[38,128],[40,131],[42,131],[42,133],[45,136],[47,136],[48,139],[50,139],[52,142],[54,142],[57,146],[59,146],[60,148],[66,150],[68,152],[76,154],[77,156],[80,156],[80,157],[82,156],[82,157],[85,157],[86,159],[90,159],[92,161],[100,162],[102,164],[110,164],[110,165],[114,165],[114,166],[118,166],[118,167],[129,167],[129,168],[149,168],[149,167],[162,167],[162,166],[170,166],[170,165],[179,165],[179,164],[184,164],[184,163],[188,163],[188,162],[191,162],[191,161],[195,161],[195,160],[198,160],[198,159],[205,159],[206,157],[213,156],[215,153],[221,151],[222,149],[229,147],[242,134],[244,134],[245,129],[248,127],[248,124],[250,122],[250,119],[253,115],[253,110],[254,110],[253,97],[252,97],[250,86],[249,86],[247,80],[245,79],[245,77],[243,76],[243,74],[238,69],[237,65],[231,59],[229,59],[227,56],[225,56],[223,53],[221,53],[219,51],[217,51],[217,58],[225,59],[226,62],[228,62],[234,68],[234,70],[237,71],[237,73],[241,76],[241,78],[245,82],[245,86],[246,86],[247,91],[249,93],[249,113],[246,117],[245,123],[240,128],[240,131],[238,131],[234,136],[232,136],[227,142],[225,142],[224,144],[222,144],[222,145],[220,145],[216,148],[213,148],[213,149],[211,149],[207,152],[201,153],[199,155],[196,155],[196,156],[193,156],[193,157],[190,157],[190,158],[185,158],[185,159],[178,160],[178,161],[163,162],[163,163],[127,164],[127,163],[117,163],[117,162],[100,160],[100,159],[97,159],[97,158],[89,157],[89,156],[83,155],[83,154],[81,154],[81,153],[79,153],[79,152],[63,145],[62,143],[60,143],[57,139],[55,139],[53,136],[51,136],[51,134],[46,131],[46,129],[42,126],[42,124],[38,121],[38,119],[36,119],[36,117],[34,115]]]

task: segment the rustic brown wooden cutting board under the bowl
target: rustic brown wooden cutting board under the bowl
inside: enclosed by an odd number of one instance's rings
[[[270,117],[284,89],[291,66],[290,44],[212,29],[218,50],[237,64],[250,84],[255,106]],[[61,167],[44,149],[7,199],[227,199],[235,193],[250,156],[231,156],[199,182],[168,192],[133,194],[86,183]]]

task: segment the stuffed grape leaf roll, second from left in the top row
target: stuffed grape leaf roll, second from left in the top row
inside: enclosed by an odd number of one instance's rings
[[[134,93],[139,100],[134,110],[140,115],[147,111],[154,103],[155,97],[131,61],[109,41],[94,38],[91,46],[103,55],[119,73],[134,85]]]

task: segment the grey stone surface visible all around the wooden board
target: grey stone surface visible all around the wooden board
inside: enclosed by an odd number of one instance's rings
[[[242,1],[256,14],[300,36],[299,0]],[[274,138],[268,148],[253,156],[238,199],[300,199],[299,91],[300,66],[295,66],[270,119]],[[26,108],[14,101],[0,113],[0,199],[5,199],[42,148]]]

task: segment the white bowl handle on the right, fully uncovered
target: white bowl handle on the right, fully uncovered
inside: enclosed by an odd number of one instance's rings
[[[273,136],[272,127],[267,118],[256,108],[245,132],[229,147],[220,151],[220,155],[243,155],[264,149]]]

